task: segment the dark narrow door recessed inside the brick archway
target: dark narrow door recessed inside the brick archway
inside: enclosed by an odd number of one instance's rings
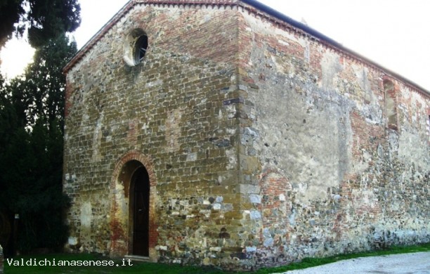
[[[131,177],[129,206],[133,255],[149,256],[150,178],[143,166]]]

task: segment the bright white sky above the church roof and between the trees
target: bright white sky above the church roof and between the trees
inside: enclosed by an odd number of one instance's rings
[[[78,48],[128,0],[79,0]],[[430,91],[430,1],[427,0],[260,0],[352,51]],[[1,51],[8,77],[22,72],[31,50],[12,41]]]

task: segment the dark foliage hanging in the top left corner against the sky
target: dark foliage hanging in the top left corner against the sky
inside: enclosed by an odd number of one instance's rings
[[[0,48],[13,32],[39,47],[64,32],[73,32],[81,23],[77,0],[1,0]]]

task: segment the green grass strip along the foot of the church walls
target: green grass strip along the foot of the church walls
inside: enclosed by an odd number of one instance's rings
[[[326,263],[333,263],[335,261],[341,261],[346,259],[354,259],[358,257],[366,256],[383,256],[390,254],[403,254],[411,252],[430,252],[430,243],[408,246],[408,247],[390,247],[389,249],[383,249],[372,252],[360,252],[354,254],[339,254],[337,256],[330,256],[327,258],[306,258],[299,263],[290,263],[287,266],[280,266],[275,268],[262,268],[256,271],[256,274],[263,273],[280,273],[287,270],[297,270],[313,266],[320,266]],[[26,255],[18,256],[14,260],[18,260],[19,263],[22,261],[28,263],[29,261],[37,262],[40,261],[53,261],[56,262],[57,266],[9,266],[11,259],[4,261],[4,273],[159,273],[159,274],[221,274],[229,273],[223,272],[216,268],[204,268],[199,266],[179,266],[179,265],[167,265],[162,263],[133,263],[133,266],[128,266],[127,261],[111,260],[112,266],[58,266],[60,261],[67,261],[72,263],[73,261],[104,261],[105,264],[110,261],[106,257],[99,256],[97,254],[43,254],[43,255]]]

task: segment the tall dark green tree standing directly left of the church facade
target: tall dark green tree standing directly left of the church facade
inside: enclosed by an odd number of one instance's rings
[[[20,214],[22,251],[60,247],[67,236],[61,70],[76,51],[62,35],[37,49],[21,77],[8,84],[0,77],[0,210]]]

